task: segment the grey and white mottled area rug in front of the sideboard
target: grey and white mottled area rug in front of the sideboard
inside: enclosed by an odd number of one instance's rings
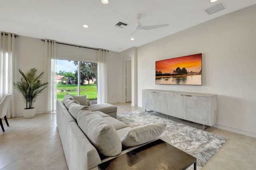
[[[165,123],[167,127],[164,134],[170,138],[171,144],[196,157],[198,170],[202,169],[228,140],[226,137],[141,111],[121,113],[117,115],[117,119],[132,128],[149,123]],[[188,169],[192,170],[194,167],[190,166]]]

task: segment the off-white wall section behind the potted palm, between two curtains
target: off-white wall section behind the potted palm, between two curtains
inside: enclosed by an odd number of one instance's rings
[[[40,39],[20,36],[16,38],[15,53],[16,53],[16,65],[15,65],[15,81],[20,79],[20,73],[18,69],[23,72],[27,72],[31,68],[35,67],[38,73],[44,71],[44,42]],[[46,76],[46,75],[44,75]],[[22,95],[15,90],[16,101],[16,114],[17,116],[23,115],[23,109],[26,108]],[[44,113],[45,95],[42,93],[36,99],[33,107],[36,108],[36,113]]]

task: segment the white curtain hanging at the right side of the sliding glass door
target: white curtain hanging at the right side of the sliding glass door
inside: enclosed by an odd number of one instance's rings
[[[99,49],[98,54],[98,100],[97,103],[107,103],[107,79],[106,79],[106,50]]]

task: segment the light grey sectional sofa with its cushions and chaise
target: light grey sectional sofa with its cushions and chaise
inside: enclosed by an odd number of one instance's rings
[[[69,170],[98,170],[98,164],[159,138],[170,143],[162,134],[165,124],[130,128],[115,119],[115,106],[81,103],[88,102],[69,94],[57,100],[57,127]]]

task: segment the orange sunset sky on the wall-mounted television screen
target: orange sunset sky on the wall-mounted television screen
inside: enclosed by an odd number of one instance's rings
[[[180,67],[180,69],[185,67],[187,71],[199,72],[202,69],[201,58],[202,53],[156,61],[156,71],[172,73],[177,67]]]

